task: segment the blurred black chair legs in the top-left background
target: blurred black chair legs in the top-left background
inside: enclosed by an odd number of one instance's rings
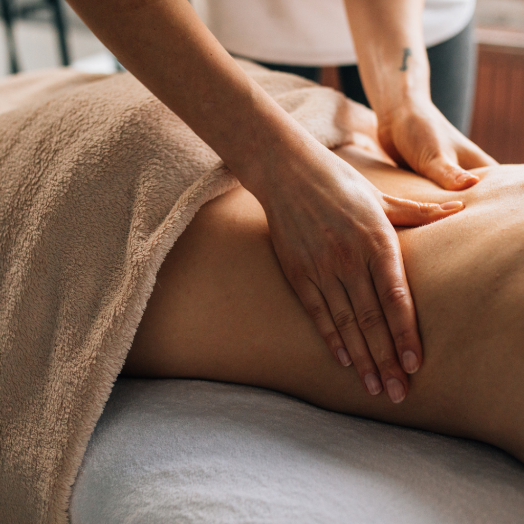
[[[63,14],[60,0],[36,0],[34,2],[16,2],[14,0],[0,0],[2,18],[7,35],[7,51],[9,53],[10,72],[20,70],[16,52],[16,42],[13,35],[13,23],[16,19],[35,18],[42,12],[51,14],[51,21],[57,31],[58,47],[62,65],[69,65],[69,51],[67,45],[67,23]]]

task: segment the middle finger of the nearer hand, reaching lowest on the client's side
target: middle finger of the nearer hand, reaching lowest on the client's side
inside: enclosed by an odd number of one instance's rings
[[[367,268],[363,275],[352,278],[346,286],[381,382],[392,402],[402,402],[408,391],[408,379],[399,364],[394,340]],[[354,362],[358,369],[357,359]],[[363,378],[366,385],[370,378],[373,379],[367,370],[363,371]]]

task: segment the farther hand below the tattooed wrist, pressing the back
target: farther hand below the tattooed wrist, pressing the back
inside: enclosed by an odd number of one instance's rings
[[[379,117],[378,138],[387,154],[448,190],[471,187],[479,178],[466,171],[496,165],[433,105],[429,97]]]

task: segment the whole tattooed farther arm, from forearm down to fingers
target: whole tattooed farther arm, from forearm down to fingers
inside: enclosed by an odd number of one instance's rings
[[[433,105],[424,0],[345,0],[358,71],[387,154],[444,189],[478,182],[467,169],[496,164]]]

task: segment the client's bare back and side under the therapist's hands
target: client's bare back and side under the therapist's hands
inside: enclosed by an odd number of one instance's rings
[[[336,151],[376,187],[454,193],[356,146]],[[524,166],[475,170],[465,210],[398,231],[424,365],[394,405],[336,362],[280,268],[242,187],[205,204],[163,263],[124,374],[250,384],[316,406],[495,444],[524,461]]]

